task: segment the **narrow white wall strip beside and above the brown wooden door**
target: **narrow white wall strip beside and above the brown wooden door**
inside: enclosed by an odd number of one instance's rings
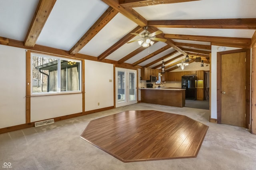
[[[212,45],[212,58],[211,58],[211,118],[217,119],[217,53],[218,47]],[[236,50],[239,48],[225,47],[223,51]]]

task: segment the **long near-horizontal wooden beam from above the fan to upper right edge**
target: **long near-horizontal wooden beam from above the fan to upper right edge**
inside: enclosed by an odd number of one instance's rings
[[[166,28],[256,29],[256,18],[210,20],[155,20],[148,21],[148,25]]]

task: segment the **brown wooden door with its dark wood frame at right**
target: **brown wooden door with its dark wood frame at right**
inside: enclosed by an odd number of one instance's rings
[[[217,123],[247,127],[248,76],[247,49],[219,52],[217,55]],[[250,59],[248,60],[250,62]],[[250,76],[249,76],[250,81]],[[247,87],[246,87],[247,86]]]

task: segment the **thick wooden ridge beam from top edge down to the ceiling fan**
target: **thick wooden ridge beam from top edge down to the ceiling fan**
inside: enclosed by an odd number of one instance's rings
[[[124,8],[119,4],[118,0],[102,0],[102,1],[108,4],[109,6],[112,6],[114,9],[118,10],[118,12],[120,12],[130,20],[134,21],[141,27],[148,25],[148,21],[145,18],[143,18],[138,12],[136,12],[132,8]]]

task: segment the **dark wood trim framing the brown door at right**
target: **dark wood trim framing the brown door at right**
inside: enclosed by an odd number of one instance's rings
[[[217,123],[221,123],[221,56],[246,52],[246,128],[250,124],[250,49],[238,49],[217,53]]]

